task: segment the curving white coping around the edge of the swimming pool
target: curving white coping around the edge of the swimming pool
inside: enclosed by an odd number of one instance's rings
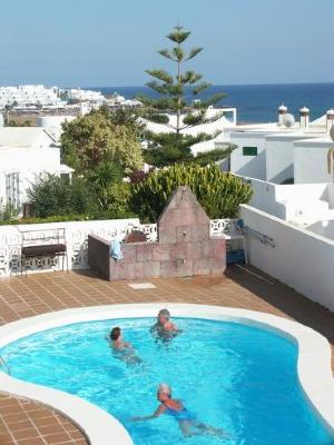
[[[0,327],[0,348],[28,335],[80,322],[155,317],[167,307],[174,317],[240,323],[285,336],[298,346],[301,385],[324,425],[334,436],[334,379],[331,346],[317,332],[274,315],[254,310],[190,304],[128,304],[66,309],[23,318]],[[158,384],[158,382],[157,382]],[[27,383],[0,372],[0,390],[27,397],[57,409],[86,434],[91,445],[134,445],[126,428],[110,414],[78,396]]]

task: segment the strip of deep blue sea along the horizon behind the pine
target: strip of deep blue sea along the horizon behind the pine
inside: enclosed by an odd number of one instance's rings
[[[101,91],[104,95],[117,92],[127,99],[143,93],[157,97],[157,93],[148,87],[90,87],[87,89]],[[217,106],[237,108],[239,123],[274,122],[277,119],[277,108],[282,103],[295,117],[298,116],[298,109],[306,106],[311,110],[311,120],[317,119],[330,108],[334,108],[334,82],[212,86],[198,98],[205,99],[216,92],[226,93]]]

